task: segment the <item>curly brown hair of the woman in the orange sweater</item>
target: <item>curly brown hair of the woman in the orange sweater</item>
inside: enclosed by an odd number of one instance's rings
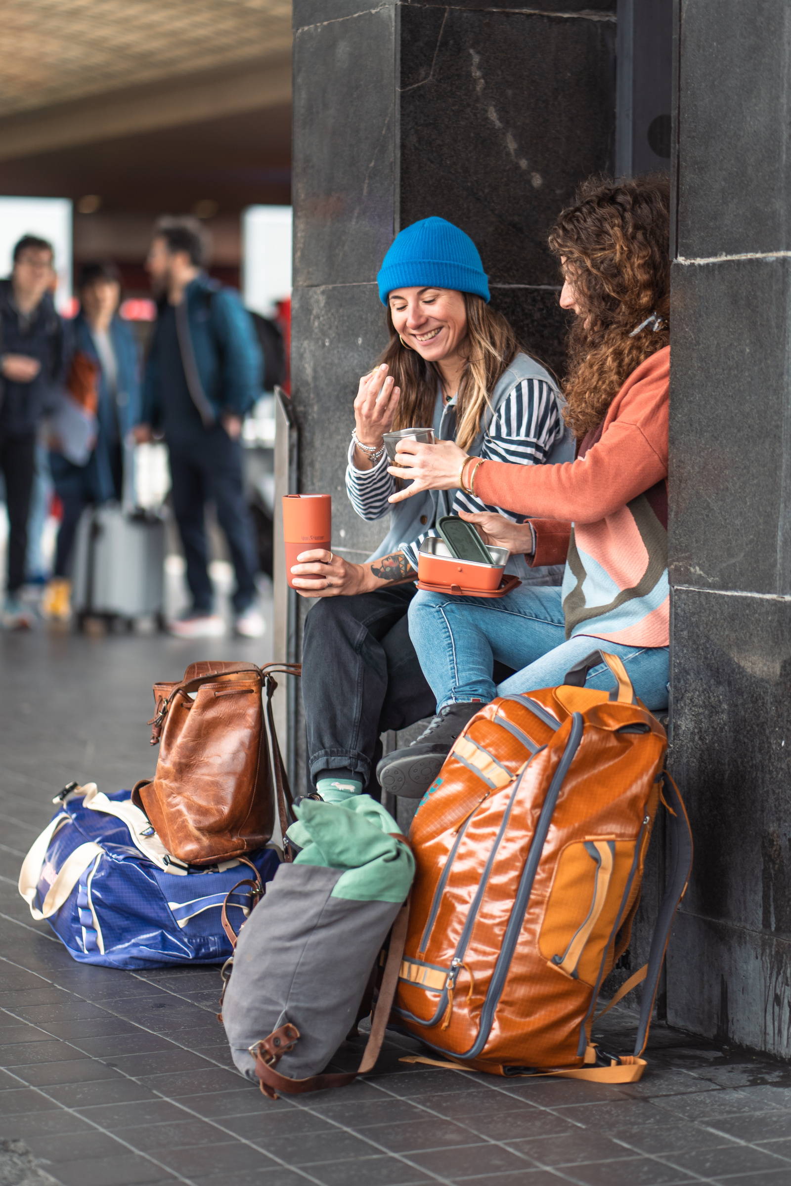
[[[581,307],[569,334],[564,415],[580,439],[597,428],[631,372],[670,340],[670,183],[592,177],[549,232]],[[646,325],[656,313],[659,327]]]

